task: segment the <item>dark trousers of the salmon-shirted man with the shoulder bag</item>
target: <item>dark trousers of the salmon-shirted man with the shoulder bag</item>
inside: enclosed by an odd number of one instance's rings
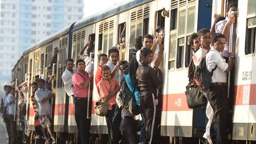
[[[119,143],[121,133],[120,130],[113,126],[112,117],[114,115],[114,108],[112,110],[108,110],[107,115],[105,116],[107,127],[108,127],[108,139],[110,144]]]

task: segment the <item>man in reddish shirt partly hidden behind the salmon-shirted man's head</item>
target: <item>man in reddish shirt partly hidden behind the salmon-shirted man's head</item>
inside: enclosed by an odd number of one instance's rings
[[[97,72],[95,74],[95,84],[96,84],[96,87],[98,85],[98,82],[100,82],[100,80],[103,79],[103,76],[101,75],[101,67],[103,67],[103,65],[105,65],[105,63],[108,62],[107,55],[105,55],[105,53],[101,53],[98,56],[98,60],[99,60],[99,65],[98,65],[98,68],[97,68]]]

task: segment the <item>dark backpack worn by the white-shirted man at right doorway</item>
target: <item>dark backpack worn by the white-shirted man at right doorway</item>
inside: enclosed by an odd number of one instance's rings
[[[217,65],[212,69],[212,72],[209,72],[206,66],[206,57],[201,59],[199,66],[197,66],[196,71],[194,72],[194,81],[199,85],[202,91],[206,92],[210,89],[213,71],[215,71],[216,68]]]

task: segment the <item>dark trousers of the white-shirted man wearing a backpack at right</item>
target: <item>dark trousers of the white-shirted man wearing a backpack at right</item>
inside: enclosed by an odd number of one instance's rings
[[[213,108],[214,116],[211,124],[212,129],[216,132],[215,136],[211,135],[213,143],[225,144],[227,143],[226,124],[228,118],[228,86],[227,85],[213,85],[210,88],[207,99]]]

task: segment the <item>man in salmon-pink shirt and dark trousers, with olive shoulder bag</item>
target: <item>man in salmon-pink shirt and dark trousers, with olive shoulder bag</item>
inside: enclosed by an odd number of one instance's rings
[[[103,75],[103,79],[98,82],[97,91],[100,98],[107,98],[108,100],[108,112],[105,116],[108,127],[108,139],[111,144],[116,144],[119,143],[121,133],[119,129],[113,126],[112,117],[117,106],[116,94],[119,92],[120,87],[119,83],[114,78],[111,79],[111,70],[109,66],[103,66],[101,68],[101,73]]]

